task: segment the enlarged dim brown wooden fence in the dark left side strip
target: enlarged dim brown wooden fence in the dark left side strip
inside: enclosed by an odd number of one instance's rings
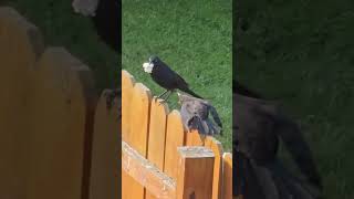
[[[119,198],[118,100],[38,28],[0,8],[0,198]]]

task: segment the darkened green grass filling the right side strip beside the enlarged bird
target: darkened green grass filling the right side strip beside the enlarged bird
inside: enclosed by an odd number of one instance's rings
[[[326,198],[353,199],[353,1],[242,3],[237,77],[302,124]]]

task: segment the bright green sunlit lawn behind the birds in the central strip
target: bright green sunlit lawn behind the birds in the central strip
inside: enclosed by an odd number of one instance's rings
[[[123,69],[152,90],[164,90],[143,71],[157,54],[199,95],[210,100],[223,123],[217,137],[231,149],[231,0],[123,0]],[[169,107],[179,109],[177,95]]]

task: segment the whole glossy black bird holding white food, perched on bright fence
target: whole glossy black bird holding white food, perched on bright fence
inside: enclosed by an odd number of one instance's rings
[[[148,63],[144,63],[143,67],[146,73],[149,73],[154,82],[159,86],[166,88],[166,91],[160,94],[158,97],[163,97],[165,94],[169,93],[164,100],[170,96],[175,90],[180,90],[185,93],[188,93],[197,98],[202,98],[201,96],[194,93],[189,87],[187,82],[174,72],[169,66],[164,63],[158,56],[150,56]]]

